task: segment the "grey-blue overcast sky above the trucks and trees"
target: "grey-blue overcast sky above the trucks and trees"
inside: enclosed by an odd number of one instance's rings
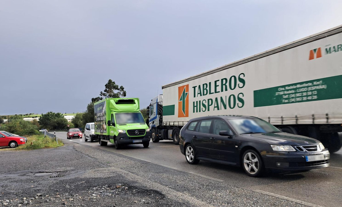
[[[245,3],[242,3],[245,2]],[[83,112],[342,24],[342,1],[0,1],[0,115]]]

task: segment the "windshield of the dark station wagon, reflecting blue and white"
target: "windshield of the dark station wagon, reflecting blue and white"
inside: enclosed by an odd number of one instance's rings
[[[258,118],[228,119],[238,134],[281,132],[275,126]]]

